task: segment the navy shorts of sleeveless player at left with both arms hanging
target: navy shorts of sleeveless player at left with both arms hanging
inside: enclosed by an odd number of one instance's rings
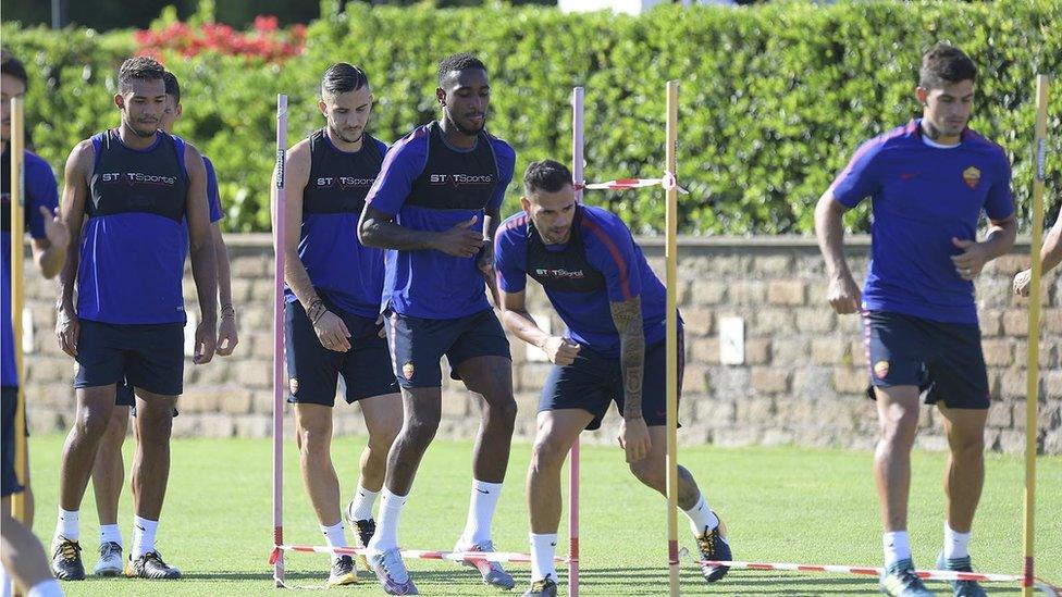
[[[74,387],[121,384],[152,394],[184,390],[184,323],[113,324],[82,320]]]

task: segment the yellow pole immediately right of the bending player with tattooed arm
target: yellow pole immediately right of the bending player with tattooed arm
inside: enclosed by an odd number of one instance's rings
[[[676,144],[678,142],[679,83],[667,82],[667,174],[676,175]],[[674,181],[674,178],[671,178]],[[678,402],[679,402],[679,329],[678,329],[678,216],[679,192],[675,184],[667,189],[667,245],[664,260],[667,263],[667,565],[671,595],[679,594],[679,539],[678,539]]]

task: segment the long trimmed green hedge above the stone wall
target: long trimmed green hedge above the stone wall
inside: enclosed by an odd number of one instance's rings
[[[1062,72],[1059,0],[662,7],[639,17],[336,5],[322,2],[328,16],[311,24],[306,52],[283,65],[206,54],[166,60],[185,96],[178,134],[217,164],[231,229],[268,226],[275,94],[291,97],[294,142],[321,125],[319,77],[339,60],[369,73],[378,98],[372,132],[391,141],[436,115],[439,59],[477,52],[492,71],[491,128],[518,153],[507,211],[517,209],[519,173],[530,160],[570,160],[575,85],[586,88],[588,178],[659,175],[664,84],[680,79],[678,174],[691,191],[681,196],[680,227],[691,234],[808,233],[815,200],[859,144],[918,112],[919,54],[937,40],[959,45],[978,64],[972,126],[1007,149],[1025,204],[1034,77]],[[74,142],[116,122],[113,73],[134,50],[132,36],[10,24],[2,33],[30,66],[34,140],[59,171]],[[1050,112],[1058,129],[1062,83]],[[1048,186],[1057,190],[1062,137],[1050,147]],[[653,233],[663,226],[660,196],[595,192],[588,201]],[[849,223],[865,229],[866,209]]]

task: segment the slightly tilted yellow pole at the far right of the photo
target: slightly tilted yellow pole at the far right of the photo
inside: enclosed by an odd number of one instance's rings
[[[1050,79],[1036,77],[1036,173],[1033,176],[1033,241],[1029,247],[1032,272],[1029,278],[1029,332],[1025,386],[1025,557],[1022,595],[1033,595],[1034,522],[1036,520],[1036,435],[1039,403],[1040,355],[1040,242],[1044,236],[1044,169],[1047,153],[1047,96]]]

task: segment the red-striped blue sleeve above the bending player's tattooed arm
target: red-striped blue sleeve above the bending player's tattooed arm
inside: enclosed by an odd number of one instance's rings
[[[638,272],[634,238],[619,219],[597,220],[590,214],[583,217],[586,239],[586,259],[605,276],[605,288],[610,302],[623,302],[642,293],[642,278]]]

